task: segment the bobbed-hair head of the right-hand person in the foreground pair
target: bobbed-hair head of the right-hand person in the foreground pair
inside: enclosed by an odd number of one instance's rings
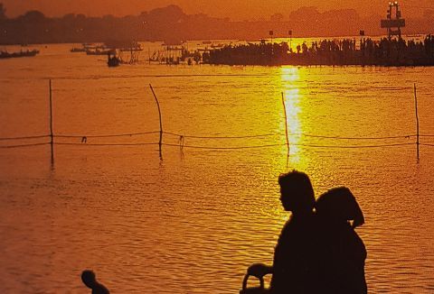
[[[362,209],[349,188],[331,188],[316,200],[316,213],[337,222],[354,221],[353,227],[364,224]]]

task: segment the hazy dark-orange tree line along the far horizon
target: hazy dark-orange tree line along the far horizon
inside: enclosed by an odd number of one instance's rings
[[[408,31],[429,33],[434,16],[427,14],[425,17],[429,20],[415,21],[414,29]],[[274,37],[288,37],[289,31],[299,37],[354,35],[360,29],[367,30],[370,35],[378,35],[384,33],[380,29],[380,18],[362,19],[352,9],[319,13],[316,7],[302,7],[287,17],[273,14],[269,20],[233,22],[229,18],[214,18],[206,14],[184,14],[176,5],[124,17],[66,14],[51,18],[33,10],[8,18],[5,6],[0,4],[0,44],[258,40],[269,38],[271,30]]]

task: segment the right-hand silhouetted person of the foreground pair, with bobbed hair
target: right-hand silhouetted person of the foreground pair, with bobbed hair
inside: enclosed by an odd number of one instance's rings
[[[332,188],[316,200],[318,222],[318,280],[322,293],[365,294],[366,249],[354,228],[364,217],[348,188]],[[353,221],[353,224],[350,223]]]

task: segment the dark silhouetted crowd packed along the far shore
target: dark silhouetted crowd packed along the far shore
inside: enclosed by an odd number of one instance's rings
[[[424,41],[402,38],[371,38],[314,41],[298,44],[293,50],[288,42],[248,42],[228,45],[203,53],[203,63],[228,65],[434,65],[434,36]]]

